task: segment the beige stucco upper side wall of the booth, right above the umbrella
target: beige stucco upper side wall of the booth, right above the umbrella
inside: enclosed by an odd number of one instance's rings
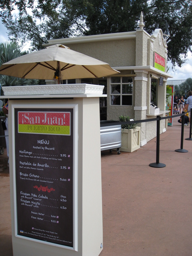
[[[135,39],[66,44],[66,46],[107,62],[111,67],[135,66]]]

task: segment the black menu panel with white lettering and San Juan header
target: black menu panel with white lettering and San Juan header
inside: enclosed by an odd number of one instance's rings
[[[17,234],[73,247],[73,108],[15,108]]]

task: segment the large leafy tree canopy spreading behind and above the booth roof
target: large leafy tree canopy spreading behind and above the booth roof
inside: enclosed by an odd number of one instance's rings
[[[17,7],[18,17],[11,16]],[[144,29],[163,31],[166,20],[168,60],[180,67],[192,46],[191,0],[2,0],[0,15],[9,37],[21,44],[31,41],[31,50],[42,49],[47,40],[134,31],[143,12]],[[30,12],[29,12],[30,11]]]

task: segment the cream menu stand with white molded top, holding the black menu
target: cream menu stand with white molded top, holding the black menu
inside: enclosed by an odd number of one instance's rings
[[[99,97],[90,84],[4,87],[14,256],[103,247]]]

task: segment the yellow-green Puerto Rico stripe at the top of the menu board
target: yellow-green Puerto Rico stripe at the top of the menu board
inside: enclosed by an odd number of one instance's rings
[[[19,124],[18,132],[21,133],[38,133],[38,134],[60,134],[70,135],[70,126],[61,125],[36,125],[36,124]]]

